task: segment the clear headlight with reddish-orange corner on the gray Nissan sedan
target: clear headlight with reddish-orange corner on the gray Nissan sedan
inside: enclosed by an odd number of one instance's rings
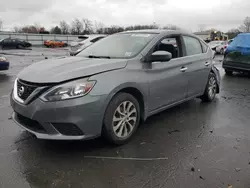
[[[77,80],[55,86],[41,96],[43,101],[61,101],[87,95],[96,81]]]

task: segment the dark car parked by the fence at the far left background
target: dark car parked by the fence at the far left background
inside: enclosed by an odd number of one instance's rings
[[[0,40],[0,48],[2,49],[24,49],[29,48],[31,46],[31,43],[16,38],[5,38]]]

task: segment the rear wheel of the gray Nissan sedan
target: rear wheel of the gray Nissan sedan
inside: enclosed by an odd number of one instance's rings
[[[201,96],[203,102],[212,102],[217,93],[217,79],[214,73],[210,72],[204,94]]]

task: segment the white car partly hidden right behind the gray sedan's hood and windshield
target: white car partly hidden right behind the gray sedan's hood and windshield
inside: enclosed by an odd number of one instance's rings
[[[104,37],[106,37],[106,35],[84,35],[79,37],[77,41],[70,44],[69,54],[71,56],[75,56],[91,44],[103,39]]]

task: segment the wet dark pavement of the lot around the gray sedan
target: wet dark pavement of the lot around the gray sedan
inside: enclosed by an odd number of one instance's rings
[[[195,99],[149,118],[125,146],[102,139],[37,140],[11,119],[9,93],[17,73],[66,49],[0,51],[10,60],[0,73],[0,187],[250,187],[250,78],[225,76],[210,104]]]

